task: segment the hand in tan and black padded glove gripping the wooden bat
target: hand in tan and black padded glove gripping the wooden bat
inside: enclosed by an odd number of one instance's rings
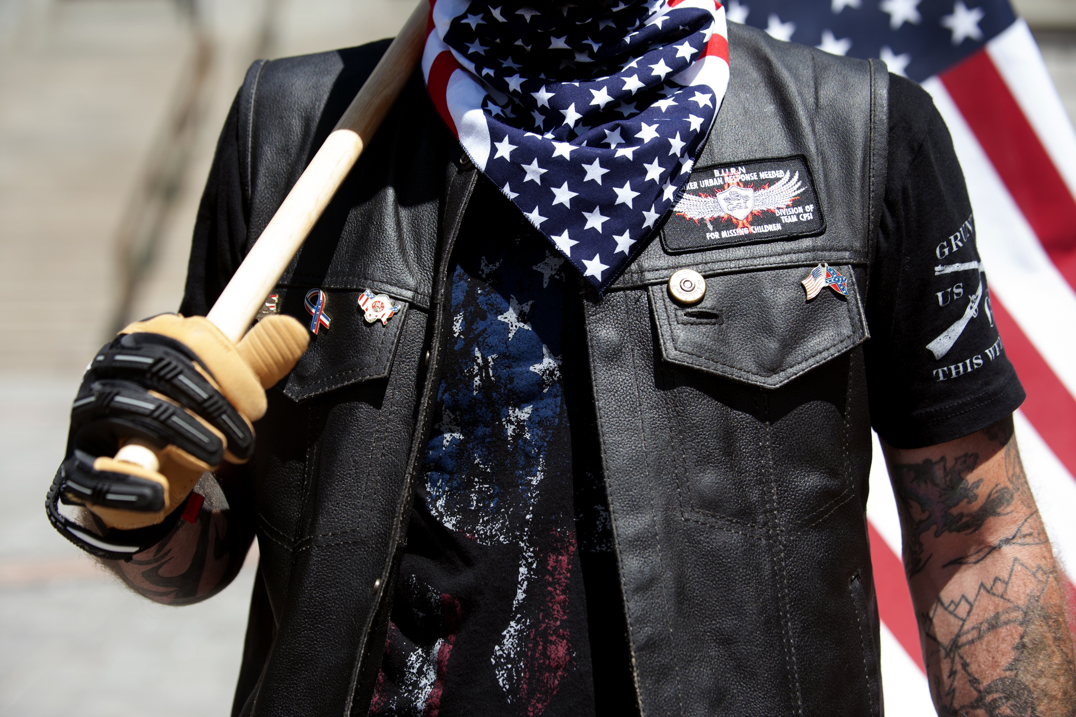
[[[250,459],[265,389],[309,342],[283,315],[261,319],[238,344],[201,316],[162,314],[125,328],[90,361],[72,404],[67,459],[46,500],[53,526],[109,558],[159,541],[204,471]],[[132,440],[154,448],[157,470],[113,458]],[[63,517],[57,500],[93,512],[100,534]]]

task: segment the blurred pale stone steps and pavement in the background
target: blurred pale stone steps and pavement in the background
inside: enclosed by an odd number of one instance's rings
[[[1076,115],[1076,5],[1024,3]],[[210,601],[156,605],[52,530],[45,490],[93,352],[116,324],[179,304],[250,61],[391,37],[412,8],[0,0],[0,717],[229,713],[253,560]]]

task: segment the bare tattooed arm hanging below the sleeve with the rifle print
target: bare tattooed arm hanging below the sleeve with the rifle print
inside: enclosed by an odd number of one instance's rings
[[[1011,420],[887,460],[938,714],[1076,714],[1064,586]]]

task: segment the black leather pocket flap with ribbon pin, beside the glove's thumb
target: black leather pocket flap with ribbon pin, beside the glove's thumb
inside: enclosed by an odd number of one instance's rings
[[[312,315],[306,307],[306,296],[312,287],[279,287],[280,313],[309,325]],[[284,396],[294,401],[326,393],[370,378],[388,375],[408,303],[394,298],[399,306],[386,324],[368,324],[358,307],[362,291],[328,289],[325,291],[325,313],[329,326],[322,326],[311,336],[310,348],[302,355],[284,383]]]

